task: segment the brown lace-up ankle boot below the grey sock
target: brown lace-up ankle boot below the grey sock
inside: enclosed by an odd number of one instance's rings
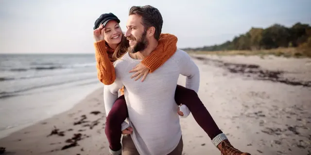
[[[234,148],[229,140],[223,140],[217,145],[217,148],[220,150],[221,155],[251,155],[249,153],[243,153],[238,149]]]

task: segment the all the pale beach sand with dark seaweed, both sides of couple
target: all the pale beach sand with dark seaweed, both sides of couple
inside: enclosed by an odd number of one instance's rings
[[[311,155],[310,59],[192,56],[199,97],[235,147],[252,155]],[[102,94],[100,88],[73,109],[1,139],[4,155],[108,155]],[[191,115],[180,122],[184,155],[220,155]],[[53,126],[57,132],[48,136]]]

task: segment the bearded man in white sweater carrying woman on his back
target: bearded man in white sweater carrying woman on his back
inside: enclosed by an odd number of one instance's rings
[[[130,9],[125,33],[130,44],[129,52],[121,60],[114,62],[117,78],[113,84],[104,88],[104,102],[108,113],[107,109],[111,107],[107,106],[115,102],[118,90],[125,86],[128,121],[133,132],[123,137],[122,155],[182,154],[183,141],[174,93],[179,74],[187,77],[187,88],[198,92],[198,67],[186,52],[177,49],[175,54],[153,74],[148,75],[144,82],[131,79],[131,73],[128,72],[155,50],[162,24],[160,12],[152,6],[134,6]],[[170,46],[176,45],[168,43],[167,47]],[[224,143],[224,147],[227,147],[225,144],[230,145]],[[249,155],[234,149],[229,151],[232,154],[226,151],[224,154]]]

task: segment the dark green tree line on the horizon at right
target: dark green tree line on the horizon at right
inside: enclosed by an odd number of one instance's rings
[[[274,24],[266,29],[252,27],[245,34],[220,45],[183,48],[185,51],[258,50],[278,47],[311,47],[311,26],[300,22],[288,28]],[[310,48],[311,49],[311,48]]]

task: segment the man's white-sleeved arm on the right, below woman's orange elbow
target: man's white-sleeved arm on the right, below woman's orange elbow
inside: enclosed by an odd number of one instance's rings
[[[181,52],[181,59],[179,60],[180,74],[186,78],[186,88],[194,90],[196,93],[199,91],[200,86],[200,71],[198,66],[192,61],[187,52],[179,50]]]

